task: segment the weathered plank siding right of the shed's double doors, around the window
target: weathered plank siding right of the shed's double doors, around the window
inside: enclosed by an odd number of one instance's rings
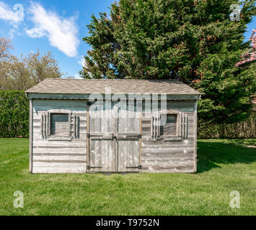
[[[167,109],[182,111],[187,115],[187,139],[152,139],[151,119],[144,118],[142,172],[195,172],[196,101],[167,101]]]

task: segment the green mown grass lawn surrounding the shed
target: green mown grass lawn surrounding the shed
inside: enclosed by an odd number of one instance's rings
[[[28,139],[0,139],[0,215],[255,215],[255,139],[198,140],[195,174],[32,175]],[[14,208],[14,191],[24,208]],[[230,192],[240,193],[231,208]]]

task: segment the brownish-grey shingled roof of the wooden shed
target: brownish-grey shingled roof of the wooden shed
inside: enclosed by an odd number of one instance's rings
[[[105,93],[105,87],[112,93],[167,93],[167,95],[200,94],[178,80],[76,80],[46,78],[26,93],[87,94]]]

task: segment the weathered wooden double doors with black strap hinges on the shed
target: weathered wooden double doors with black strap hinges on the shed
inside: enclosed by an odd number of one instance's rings
[[[136,106],[108,103],[103,101],[97,110],[87,106],[87,170],[137,172],[141,167],[141,113]]]

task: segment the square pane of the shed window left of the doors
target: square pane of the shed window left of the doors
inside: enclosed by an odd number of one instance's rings
[[[51,114],[51,134],[59,136],[69,136],[69,115]]]

